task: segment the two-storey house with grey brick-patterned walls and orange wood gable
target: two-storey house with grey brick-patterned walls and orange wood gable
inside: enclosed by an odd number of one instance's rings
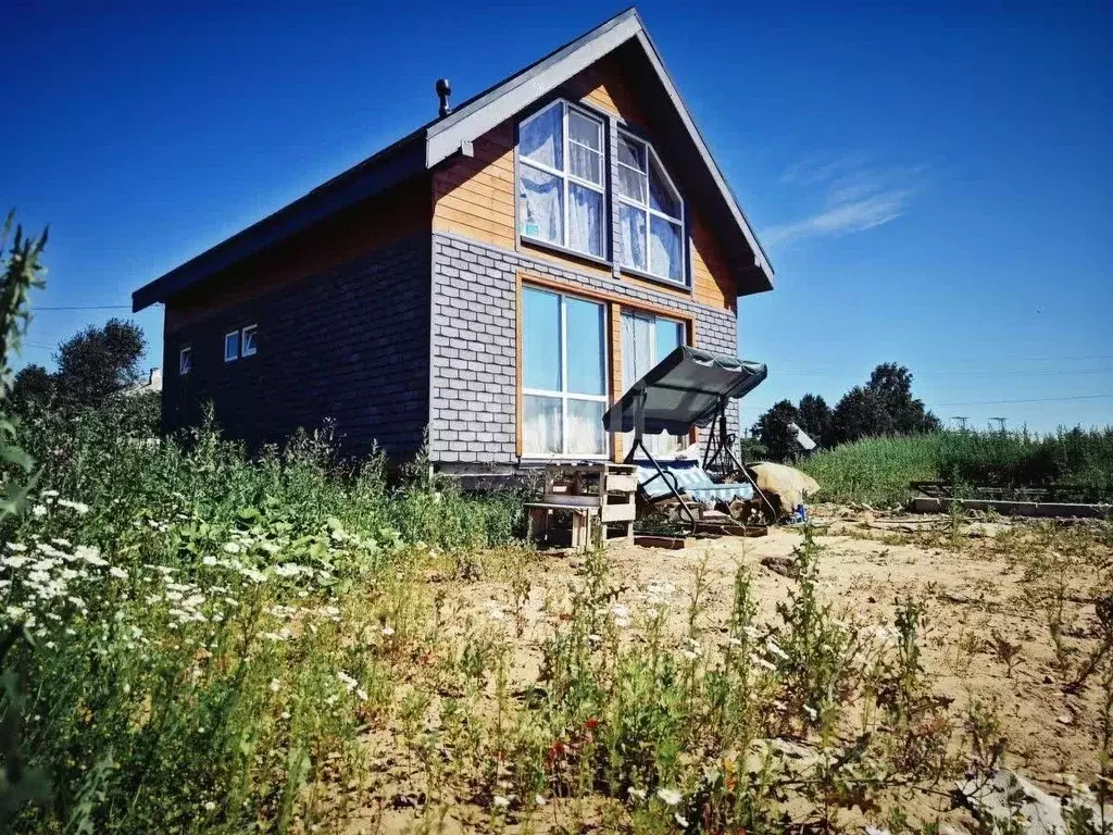
[[[444,471],[621,460],[601,416],[628,385],[681,342],[737,353],[772,268],[636,10],[436,90],[437,118],[135,292],[165,305],[167,430],[211,402],[253,444],[331,419],[400,460],[427,428]]]

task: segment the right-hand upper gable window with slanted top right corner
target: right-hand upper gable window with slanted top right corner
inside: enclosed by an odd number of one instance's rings
[[[652,146],[629,134],[619,134],[614,191],[622,266],[686,284],[683,200]]]

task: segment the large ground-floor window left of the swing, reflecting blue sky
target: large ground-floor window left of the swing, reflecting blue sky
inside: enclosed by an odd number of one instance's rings
[[[523,454],[605,456],[603,305],[523,287],[520,338]]]

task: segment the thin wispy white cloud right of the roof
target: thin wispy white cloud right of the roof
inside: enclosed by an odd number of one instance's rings
[[[791,165],[781,174],[781,181],[821,186],[821,205],[807,217],[774,226],[764,237],[777,244],[819,235],[848,235],[896,220],[910,207],[926,168],[866,168],[861,156]]]

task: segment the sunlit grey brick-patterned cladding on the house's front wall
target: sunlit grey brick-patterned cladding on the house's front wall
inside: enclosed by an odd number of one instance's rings
[[[444,464],[509,466],[516,455],[516,276],[603,291],[696,320],[697,347],[738,352],[735,314],[644,285],[597,277],[455,235],[433,236],[430,453]],[[738,405],[728,415],[738,424]]]

